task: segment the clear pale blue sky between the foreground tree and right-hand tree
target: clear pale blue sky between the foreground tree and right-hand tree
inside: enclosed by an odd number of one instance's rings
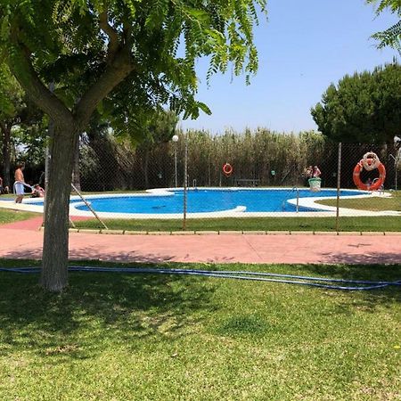
[[[266,127],[279,132],[317,129],[310,108],[327,86],[345,74],[372,70],[392,61],[397,52],[376,49],[369,37],[397,21],[374,14],[364,0],[270,0],[268,21],[255,30],[259,69],[251,78],[217,74],[206,85],[208,63],[201,60],[198,99],[212,115],[201,113],[181,127],[204,128],[212,134],[233,128]]]

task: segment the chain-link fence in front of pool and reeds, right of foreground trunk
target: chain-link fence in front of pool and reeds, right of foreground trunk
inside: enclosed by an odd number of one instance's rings
[[[187,230],[401,231],[397,143],[265,130],[175,139],[134,150],[110,135],[83,138],[73,184],[102,218],[150,231],[169,219]]]

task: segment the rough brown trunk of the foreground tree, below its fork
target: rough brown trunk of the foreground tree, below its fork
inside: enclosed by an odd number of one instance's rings
[[[45,235],[41,285],[62,291],[68,285],[69,206],[78,129],[55,127],[51,141],[49,185],[45,197]]]

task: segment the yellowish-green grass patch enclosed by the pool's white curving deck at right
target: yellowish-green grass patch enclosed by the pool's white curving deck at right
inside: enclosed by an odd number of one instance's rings
[[[333,199],[316,201],[322,205],[336,206],[337,202]],[[390,198],[374,197],[369,199],[340,199],[340,208],[359,209],[359,210],[397,210],[401,211],[401,191],[393,192]]]

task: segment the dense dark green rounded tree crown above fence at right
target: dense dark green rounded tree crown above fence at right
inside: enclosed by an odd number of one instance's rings
[[[392,143],[401,127],[401,66],[345,76],[311,113],[323,135],[335,141]]]

